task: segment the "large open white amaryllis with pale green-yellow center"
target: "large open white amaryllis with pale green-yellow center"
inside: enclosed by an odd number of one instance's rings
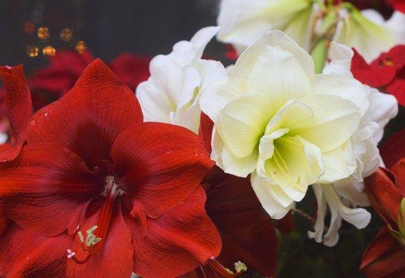
[[[212,158],[246,177],[272,218],[283,218],[318,181],[356,168],[348,140],[368,109],[363,85],[315,74],[309,54],[271,31],[239,57],[230,77],[212,83],[200,106],[214,121]]]

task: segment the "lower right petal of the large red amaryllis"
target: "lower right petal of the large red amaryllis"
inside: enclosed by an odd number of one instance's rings
[[[159,218],[148,218],[143,236],[138,221],[128,218],[134,245],[134,272],[141,277],[177,277],[219,255],[221,238],[204,209],[199,186],[182,204]]]

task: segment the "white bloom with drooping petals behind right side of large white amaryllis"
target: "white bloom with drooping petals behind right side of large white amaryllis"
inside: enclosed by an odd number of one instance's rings
[[[342,44],[331,44],[329,51],[331,62],[326,65],[324,73],[352,76],[350,66],[353,55],[354,53],[349,47]],[[370,213],[364,208],[357,208],[357,206],[370,205],[367,195],[363,191],[363,178],[372,174],[381,165],[377,144],[383,137],[384,126],[398,112],[395,97],[383,94],[367,85],[363,86],[367,90],[370,106],[348,142],[348,156],[355,158],[353,174],[334,183],[317,183],[312,186],[318,210],[315,231],[309,231],[308,236],[314,238],[318,243],[323,240],[324,245],[327,246],[333,246],[339,240],[338,230],[342,219],[354,224],[358,229],[363,229],[370,222]],[[327,207],[331,211],[331,224],[324,234]]]

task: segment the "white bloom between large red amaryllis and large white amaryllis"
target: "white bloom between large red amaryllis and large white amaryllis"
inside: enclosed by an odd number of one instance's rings
[[[200,92],[228,76],[221,63],[201,58],[218,31],[219,27],[202,28],[189,42],[177,42],[170,54],[152,59],[150,78],[136,89],[146,122],[177,124],[198,133]]]

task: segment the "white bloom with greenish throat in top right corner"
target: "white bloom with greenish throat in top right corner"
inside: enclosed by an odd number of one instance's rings
[[[361,12],[340,10],[340,22],[334,36],[336,42],[354,47],[367,61],[372,62],[382,52],[405,43],[405,14],[395,11],[387,21],[376,10]]]

